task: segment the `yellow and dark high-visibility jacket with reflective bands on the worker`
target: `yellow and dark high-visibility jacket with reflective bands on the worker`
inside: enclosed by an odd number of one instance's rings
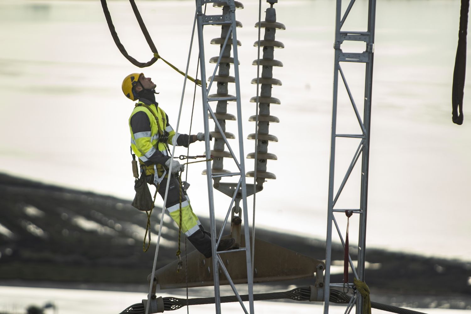
[[[152,111],[149,111],[149,109]],[[140,98],[129,118],[131,148],[145,166],[146,175],[154,174],[157,165],[158,176],[162,176],[164,164],[170,158],[167,145],[188,147],[189,137],[176,133],[168,121],[168,115],[157,103]]]

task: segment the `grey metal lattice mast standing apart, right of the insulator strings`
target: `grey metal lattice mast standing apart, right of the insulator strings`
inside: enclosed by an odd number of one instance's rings
[[[354,261],[351,257],[348,257],[349,268],[351,269],[355,278],[365,282],[365,239],[366,239],[366,213],[367,213],[367,195],[368,195],[368,164],[369,164],[369,144],[370,144],[370,121],[371,121],[371,95],[372,95],[372,82],[373,82],[373,58],[374,58],[374,24],[375,24],[375,11],[376,11],[376,0],[368,1],[368,16],[367,16],[367,30],[366,31],[346,31],[342,30],[342,26],[345,20],[348,18],[350,9],[354,5],[355,0],[350,0],[349,5],[343,12],[341,10],[341,0],[336,2],[336,21],[335,21],[335,56],[334,56],[334,73],[333,73],[333,100],[332,100],[332,133],[331,133],[331,154],[330,154],[330,165],[329,165],[329,196],[327,204],[327,237],[326,237],[326,250],[325,250],[325,303],[324,303],[324,314],[329,312],[329,294],[330,288],[332,287],[345,287],[354,286],[349,282],[345,283],[331,283],[330,282],[330,266],[332,262],[332,233],[333,226],[337,229],[338,236],[341,240],[342,245],[345,247],[345,241],[343,240],[340,228],[336,222],[334,216],[335,213],[345,217],[346,211],[350,211],[353,215],[359,216],[358,225],[358,250],[357,250],[357,266],[355,267]],[[349,53],[344,52],[341,48],[342,43],[345,41],[360,41],[365,42],[365,51],[360,53]],[[347,49],[347,48],[346,48]],[[344,49],[344,50],[346,50]],[[363,116],[360,115],[357,105],[355,103],[355,97],[353,97],[347,77],[343,73],[341,64],[353,63],[353,64],[365,64],[365,91],[361,99],[364,105]],[[351,79],[351,78],[350,78]],[[341,82],[339,84],[339,81]],[[343,84],[342,84],[343,83]],[[343,85],[348,93],[350,103],[353,107],[353,112],[356,115],[358,121],[359,130],[357,134],[338,134],[337,128],[337,107],[339,103],[338,89],[339,85]],[[334,191],[334,170],[336,164],[335,151],[337,144],[337,137],[343,137],[345,139],[358,140],[356,153],[353,154],[349,168],[343,177],[343,180],[337,191]],[[344,142],[343,142],[344,143]],[[350,174],[354,169],[359,156],[361,155],[361,180],[360,180],[360,201],[359,204],[348,205],[345,208],[336,208],[336,202],[341,196],[341,193],[349,180]],[[343,214],[343,215],[342,215]],[[354,290],[356,291],[356,290]],[[363,299],[358,297],[357,293],[354,293],[349,305],[347,306],[346,312],[349,313],[352,307],[356,305],[357,314],[361,314],[363,311]]]

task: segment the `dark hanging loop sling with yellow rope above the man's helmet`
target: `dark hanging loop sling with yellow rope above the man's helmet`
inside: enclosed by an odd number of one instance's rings
[[[151,66],[152,64],[154,64],[158,59],[162,59],[162,61],[165,62],[166,64],[170,65],[172,69],[174,69],[175,71],[177,71],[180,74],[184,75],[185,78],[188,78],[190,81],[193,81],[196,84],[201,86],[201,81],[199,81],[199,80],[195,81],[194,78],[192,78],[191,76],[186,75],[185,72],[182,72],[175,65],[171,64],[170,62],[168,62],[167,60],[162,58],[162,56],[159,55],[159,52],[157,51],[157,48],[155,48],[154,42],[152,41],[152,38],[150,37],[149,32],[147,31],[146,24],[144,24],[144,21],[142,20],[142,16],[140,15],[138,7],[136,6],[136,2],[134,0],[129,0],[129,2],[131,4],[132,10],[134,11],[134,15],[136,16],[136,19],[138,20],[138,24],[139,24],[139,27],[141,28],[142,34],[146,38],[147,44],[149,45],[149,48],[151,49],[154,56],[152,57],[152,59],[150,59],[146,63],[139,62],[138,60],[136,60],[132,56],[130,56],[128,54],[128,52],[126,51],[126,48],[124,48],[121,41],[119,40],[118,33],[114,29],[113,21],[111,19],[110,11],[108,10],[108,5],[106,4],[106,0],[100,0],[100,1],[101,1],[101,7],[103,8],[103,13],[105,14],[106,23],[108,24],[108,28],[111,32],[111,36],[113,37],[114,43],[116,44],[116,47],[118,47],[121,54],[126,59],[128,59],[130,61],[130,63],[138,66],[139,68],[145,68],[145,67],[148,67],[148,66]]]

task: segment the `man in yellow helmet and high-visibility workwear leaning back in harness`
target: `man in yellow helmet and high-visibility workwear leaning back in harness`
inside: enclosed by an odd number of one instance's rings
[[[138,100],[129,118],[131,148],[138,156],[146,181],[158,188],[162,199],[170,177],[166,209],[177,225],[180,220],[180,188],[178,172],[185,169],[178,160],[172,160],[167,153],[167,144],[188,147],[196,141],[204,141],[204,133],[187,135],[175,133],[168,115],[155,101],[155,83],[143,73],[132,73],[122,81],[122,91],[130,100]],[[171,166],[171,167],[170,167]],[[169,176],[169,169],[171,174]],[[141,176],[143,175],[141,173]],[[159,188],[160,187],[160,188]],[[181,231],[205,258],[210,258],[211,233],[204,230],[191,209],[186,193],[181,193]],[[218,251],[230,249],[235,243],[232,238],[219,242]]]

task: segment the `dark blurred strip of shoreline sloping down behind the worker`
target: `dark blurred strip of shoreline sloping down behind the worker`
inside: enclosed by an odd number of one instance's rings
[[[0,174],[0,195],[0,224],[14,234],[8,237],[0,233],[0,285],[147,290],[146,277],[152,269],[153,254],[142,252],[143,234],[136,226],[145,226],[145,214],[132,208],[130,201],[5,174]],[[34,209],[29,209],[28,212],[28,206],[39,211],[34,214]],[[156,216],[152,224],[159,223]],[[100,227],[84,229],[80,219]],[[207,219],[201,220],[208,224]],[[164,222],[164,225],[172,234],[167,240],[174,244],[161,247],[157,267],[173,261],[175,254],[178,230],[172,223]],[[257,234],[262,240],[324,259],[322,240],[261,228]],[[154,248],[149,252],[154,252]],[[366,270],[366,283],[376,302],[471,309],[471,262],[379,249],[369,249],[366,258],[369,263],[380,265]],[[343,259],[340,245],[333,246],[333,259]],[[331,280],[341,282],[342,275],[335,274]],[[263,285],[263,289],[288,290],[292,284],[304,286],[312,284],[312,280],[277,282]],[[170,292],[184,294],[177,290]]]

